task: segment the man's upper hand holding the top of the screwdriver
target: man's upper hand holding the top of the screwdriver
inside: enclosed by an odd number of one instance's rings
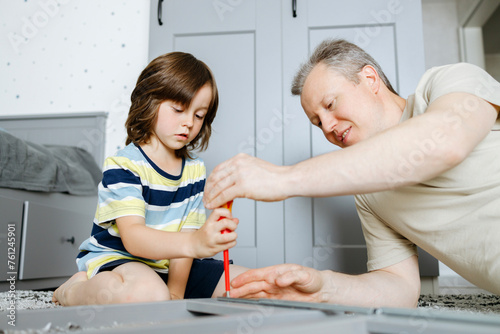
[[[237,197],[267,202],[284,200],[288,197],[284,187],[290,182],[282,177],[287,168],[240,153],[219,164],[208,177],[205,206],[214,209]]]

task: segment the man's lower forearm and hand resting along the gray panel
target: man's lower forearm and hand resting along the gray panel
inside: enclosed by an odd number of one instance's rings
[[[298,264],[249,270],[231,282],[231,297],[298,300],[363,307],[415,307],[420,295],[417,256],[360,275]]]

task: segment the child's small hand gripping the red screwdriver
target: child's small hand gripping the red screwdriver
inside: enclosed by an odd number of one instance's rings
[[[221,217],[221,220],[219,220]],[[208,217],[205,224],[193,236],[194,258],[214,256],[226,249],[236,246],[238,235],[235,230],[238,226],[238,218],[233,218],[228,209],[215,209]],[[230,230],[222,234],[221,231]]]

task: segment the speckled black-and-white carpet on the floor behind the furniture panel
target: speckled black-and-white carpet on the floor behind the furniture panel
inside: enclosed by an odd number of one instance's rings
[[[0,292],[0,312],[6,311],[9,303],[8,293]],[[16,304],[18,310],[61,307],[52,303],[52,291],[17,290]],[[422,295],[418,307],[500,315],[500,296],[487,294]]]

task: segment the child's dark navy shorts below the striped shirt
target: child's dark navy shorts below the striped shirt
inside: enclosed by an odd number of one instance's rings
[[[120,264],[133,262],[133,260],[116,260],[106,263],[99,269],[102,271],[111,271],[118,267]],[[233,261],[229,261],[233,263]],[[224,273],[224,262],[215,259],[194,259],[189,273],[186,291],[184,293],[185,299],[193,298],[211,298],[212,294],[219,283],[219,280]],[[167,284],[168,274],[158,273],[161,279]]]

